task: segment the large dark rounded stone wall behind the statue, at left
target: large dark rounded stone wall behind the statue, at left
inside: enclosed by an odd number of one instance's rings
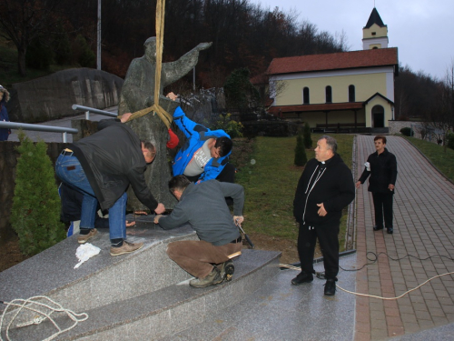
[[[75,115],[72,105],[97,109],[118,105],[123,79],[101,70],[76,68],[16,83],[7,109],[11,121],[36,123]]]

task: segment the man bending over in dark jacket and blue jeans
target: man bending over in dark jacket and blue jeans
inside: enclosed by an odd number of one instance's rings
[[[130,116],[128,113],[121,120],[100,121],[97,133],[64,149],[55,163],[56,175],[84,194],[78,242],[84,244],[96,236],[94,216],[99,202],[101,209],[109,211],[112,256],[143,246],[125,241],[128,186],[152,212],[161,214],[165,210],[154,199],[143,176],[146,164],[153,162],[155,148],[150,142],[141,142],[129,126],[123,125]]]

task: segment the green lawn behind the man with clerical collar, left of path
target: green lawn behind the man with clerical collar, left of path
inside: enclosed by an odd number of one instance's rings
[[[313,147],[320,136],[312,135]],[[354,135],[332,136],[338,141],[339,154],[350,167]],[[296,136],[257,137],[250,159],[243,160],[236,182],[245,188],[244,227],[248,232],[296,240],[298,226],[293,217],[293,197],[304,167],[293,165],[295,146]],[[307,149],[306,154],[308,160],[313,158],[313,149]],[[234,157],[232,161],[235,163]],[[342,222],[341,247],[345,217]]]

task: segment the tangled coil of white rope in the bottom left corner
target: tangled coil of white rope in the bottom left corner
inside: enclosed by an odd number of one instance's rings
[[[49,304],[45,304],[45,303],[39,302],[39,301],[37,301],[38,299],[47,300],[50,304],[52,304],[54,306],[50,306]],[[6,308],[5,308],[2,316],[0,317],[0,341],[4,341],[3,338],[2,338],[2,328],[4,326],[4,320],[5,320],[6,313],[7,313],[8,309],[10,307],[12,307],[12,306],[18,307],[18,309],[15,310],[15,313],[13,314],[13,316],[11,318],[11,321],[9,321],[9,323],[5,327],[5,334],[6,334],[6,340],[7,341],[12,341],[12,339],[9,337],[9,329],[13,325],[13,322],[15,321],[15,318],[19,315],[19,313],[21,313],[23,311],[23,309],[35,312],[36,314],[39,314],[39,315],[35,316],[29,322],[19,323],[19,324],[16,324],[15,326],[13,326],[13,327],[20,328],[20,327],[23,327],[23,326],[39,325],[44,320],[48,319],[54,325],[54,327],[57,329],[57,332],[54,333],[54,335],[49,336],[47,338],[44,338],[44,340],[42,340],[42,341],[53,340],[56,336],[59,336],[60,334],[63,334],[65,332],[67,332],[68,330],[73,329],[74,326],[77,326],[77,324],[79,322],[83,322],[83,321],[85,321],[88,318],[88,314],[86,314],[86,313],[81,313],[81,314],[74,313],[72,310],[65,309],[63,306],[61,306],[60,304],[56,303],[54,300],[52,300],[51,298],[46,297],[46,296],[33,296],[33,297],[28,298],[28,299],[18,298],[18,299],[15,299],[15,300],[11,301],[11,302],[4,302],[4,304],[5,304]],[[35,307],[35,306],[37,306],[37,307]],[[40,307],[44,308],[44,309],[40,310],[39,309]],[[46,312],[45,309],[48,310],[48,312]],[[69,326],[69,327],[65,328],[65,329],[61,329],[56,324],[56,322],[54,321],[54,318],[52,318],[52,316],[51,316],[54,313],[64,313],[64,314],[66,314],[66,316],[68,316],[71,320],[74,321],[74,324],[72,326]]]

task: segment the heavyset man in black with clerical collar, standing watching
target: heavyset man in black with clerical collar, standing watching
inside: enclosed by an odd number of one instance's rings
[[[355,197],[350,169],[336,150],[334,138],[321,136],[315,148],[315,159],[304,167],[293,200],[293,215],[300,224],[301,273],[291,280],[291,284],[300,286],[313,280],[313,254],[319,238],[326,277],[324,294],[327,296],[336,294],[342,209]]]

